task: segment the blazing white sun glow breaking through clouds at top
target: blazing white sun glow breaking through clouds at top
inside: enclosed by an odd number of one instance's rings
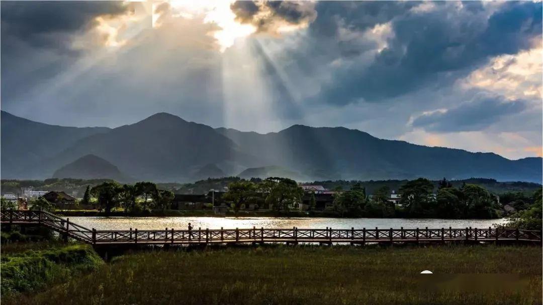
[[[172,8],[177,16],[192,18],[197,15],[204,15],[204,22],[214,23],[220,30],[213,32],[217,39],[220,51],[224,51],[233,45],[237,38],[247,37],[255,33],[256,28],[250,24],[236,22],[236,15],[230,10],[228,0],[204,0],[204,1],[171,1]]]

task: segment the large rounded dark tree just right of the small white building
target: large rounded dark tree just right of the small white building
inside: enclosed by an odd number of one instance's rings
[[[431,213],[433,198],[430,196],[434,186],[425,178],[407,181],[400,187],[400,203],[410,216],[428,216]]]

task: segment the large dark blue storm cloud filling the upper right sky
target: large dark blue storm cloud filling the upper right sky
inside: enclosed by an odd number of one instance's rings
[[[351,29],[367,29],[388,20],[394,37],[369,65],[357,62],[334,72],[334,81],[322,88],[317,100],[345,105],[358,100],[394,98],[422,86],[449,85],[489,57],[514,54],[528,48],[531,38],[541,36],[541,3],[503,4],[488,22],[475,4],[452,9],[436,3],[438,8],[415,14],[404,3],[397,3],[400,8],[395,7],[396,2],[390,2],[380,9],[368,9],[373,13],[370,16],[375,16],[369,19],[373,23],[346,21],[342,17]],[[311,28],[321,27],[321,10],[318,7],[318,17]],[[325,20],[330,22],[333,18]]]

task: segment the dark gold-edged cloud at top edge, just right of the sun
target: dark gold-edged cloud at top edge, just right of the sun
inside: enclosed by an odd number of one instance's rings
[[[313,4],[303,1],[236,1],[230,5],[236,20],[254,25],[258,31],[274,31],[277,23],[313,21]]]

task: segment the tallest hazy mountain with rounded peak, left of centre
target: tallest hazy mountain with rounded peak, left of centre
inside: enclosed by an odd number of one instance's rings
[[[167,113],[81,139],[47,163],[89,153],[109,160],[130,177],[155,181],[190,180],[206,164],[241,160],[251,165],[251,157],[237,152],[235,143],[213,128]]]

